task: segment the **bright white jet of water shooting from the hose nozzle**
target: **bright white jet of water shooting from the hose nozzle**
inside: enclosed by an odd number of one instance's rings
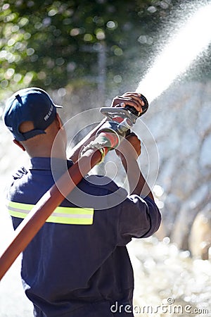
[[[151,103],[207,49],[211,40],[211,4],[193,13],[177,34],[170,37],[136,92],[144,92]],[[183,23],[184,24],[184,23]],[[177,27],[177,25],[175,25]]]

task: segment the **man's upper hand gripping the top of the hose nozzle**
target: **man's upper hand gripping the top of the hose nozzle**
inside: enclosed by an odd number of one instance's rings
[[[125,92],[122,96],[115,97],[111,104],[112,107],[125,107],[127,105],[134,107],[139,112],[142,112],[144,102],[141,99],[141,94],[138,92]]]

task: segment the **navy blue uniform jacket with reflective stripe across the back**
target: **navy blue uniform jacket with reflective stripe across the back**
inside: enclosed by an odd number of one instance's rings
[[[31,163],[13,176],[8,189],[14,228],[54,183],[51,159]],[[23,251],[21,275],[34,316],[117,316],[112,304],[132,305],[126,244],[153,235],[159,225],[160,212],[150,198],[128,197],[108,178],[84,178]]]

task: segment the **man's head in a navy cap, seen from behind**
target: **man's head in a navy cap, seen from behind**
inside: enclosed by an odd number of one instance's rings
[[[62,123],[53,101],[44,90],[21,89],[6,101],[4,123],[12,132],[15,144],[30,156],[46,156]],[[45,150],[46,149],[46,150]]]

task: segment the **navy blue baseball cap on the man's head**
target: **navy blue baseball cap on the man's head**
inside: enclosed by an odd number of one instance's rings
[[[6,101],[4,110],[4,123],[18,141],[25,141],[46,133],[44,130],[53,123],[56,118],[56,108],[62,108],[53,104],[53,101],[43,89],[31,87],[15,92]],[[32,121],[34,129],[25,133],[19,130],[20,124]]]

